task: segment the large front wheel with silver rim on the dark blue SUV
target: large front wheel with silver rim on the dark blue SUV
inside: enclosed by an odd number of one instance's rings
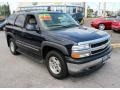
[[[58,51],[48,52],[46,56],[46,65],[49,73],[54,78],[64,79],[67,77],[68,69],[62,53]]]

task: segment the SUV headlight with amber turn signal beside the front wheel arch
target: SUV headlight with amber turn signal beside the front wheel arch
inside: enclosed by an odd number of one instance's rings
[[[71,57],[72,58],[82,58],[82,57],[87,57],[90,55],[90,52],[88,52],[88,49],[90,49],[90,45],[89,44],[80,44],[77,46],[73,46],[72,47],[72,53],[71,53]],[[87,50],[87,51],[85,51]]]

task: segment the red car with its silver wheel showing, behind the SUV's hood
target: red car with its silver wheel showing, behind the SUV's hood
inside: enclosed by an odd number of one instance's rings
[[[114,17],[100,17],[94,19],[91,22],[91,26],[100,30],[111,29],[111,25],[114,20],[115,20]]]

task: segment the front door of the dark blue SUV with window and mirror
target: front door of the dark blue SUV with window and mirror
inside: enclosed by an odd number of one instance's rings
[[[41,32],[37,31],[38,23],[34,15],[27,15],[25,25],[22,32],[23,47],[28,51],[36,54],[40,54],[41,43],[44,38],[41,36]]]

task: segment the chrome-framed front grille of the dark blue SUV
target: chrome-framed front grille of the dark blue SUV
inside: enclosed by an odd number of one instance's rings
[[[110,35],[107,35],[106,37],[103,38],[78,43],[78,45],[83,44],[89,44],[90,48],[80,50],[78,51],[79,53],[90,53],[91,56],[96,55],[105,52],[110,48]]]

